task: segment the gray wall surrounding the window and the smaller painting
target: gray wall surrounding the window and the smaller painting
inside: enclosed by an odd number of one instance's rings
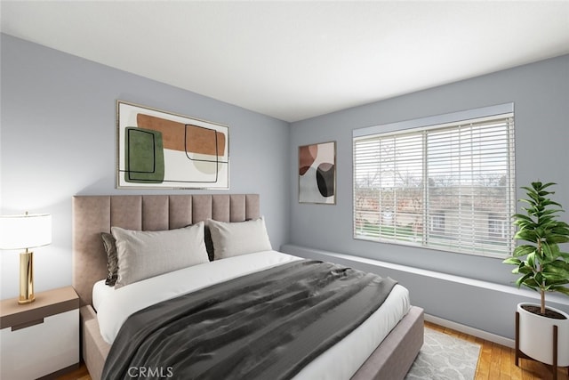
[[[289,155],[290,173],[295,180],[290,185],[290,244],[509,285],[516,279],[509,274],[513,267],[502,264],[501,259],[352,238],[354,128],[507,102],[514,102],[515,107],[517,187],[537,179],[557,182],[555,198],[569,209],[569,55],[565,55],[293,123]],[[337,141],[337,205],[299,204],[296,180],[298,146],[321,141]],[[519,191],[517,195],[517,198],[521,198],[524,194]],[[562,216],[569,220],[569,214]],[[565,247],[565,251],[568,249]],[[301,252],[312,255],[310,251],[297,250],[299,255]],[[411,275],[409,279],[419,278]],[[416,282],[421,284],[421,281]],[[472,327],[492,327],[493,323],[484,322],[491,319],[487,310],[477,310],[477,306],[465,301],[467,298],[484,300],[487,298],[485,293],[464,292],[461,287],[447,285],[444,290],[412,292],[412,298],[415,303],[427,306],[427,311],[435,316],[475,325]],[[446,305],[452,306],[441,307],[441,299],[445,299]],[[569,297],[565,299],[561,301],[561,306],[569,311]],[[500,317],[509,318],[511,322],[512,315]],[[506,325],[506,322],[500,323]],[[513,336],[513,329],[500,328],[495,332],[502,336]]]

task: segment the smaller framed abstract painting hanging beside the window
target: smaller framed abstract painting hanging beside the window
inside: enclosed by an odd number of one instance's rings
[[[299,202],[336,204],[336,141],[299,147]]]

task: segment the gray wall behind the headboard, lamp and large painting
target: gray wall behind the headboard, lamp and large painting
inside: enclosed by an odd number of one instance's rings
[[[75,194],[259,193],[273,246],[288,240],[288,123],[1,38],[0,212],[46,212],[53,220],[52,245],[36,248],[36,292],[71,283]],[[229,125],[230,190],[116,190],[116,100]],[[17,252],[0,257],[0,296],[16,296]]]

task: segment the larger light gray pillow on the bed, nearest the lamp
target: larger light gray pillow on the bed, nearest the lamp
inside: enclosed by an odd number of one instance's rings
[[[204,222],[176,230],[124,230],[112,227],[118,263],[115,287],[124,287],[188,266],[209,263]]]

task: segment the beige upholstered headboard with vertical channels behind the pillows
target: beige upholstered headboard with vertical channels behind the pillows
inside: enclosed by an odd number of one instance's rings
[[[73,287],[82,306],[92,303],[92,286],[107,277],[100,232],[110,232],[112,226],[172,230],[206,219],[244,222],[258,217],[258,194],[73,197]]]

